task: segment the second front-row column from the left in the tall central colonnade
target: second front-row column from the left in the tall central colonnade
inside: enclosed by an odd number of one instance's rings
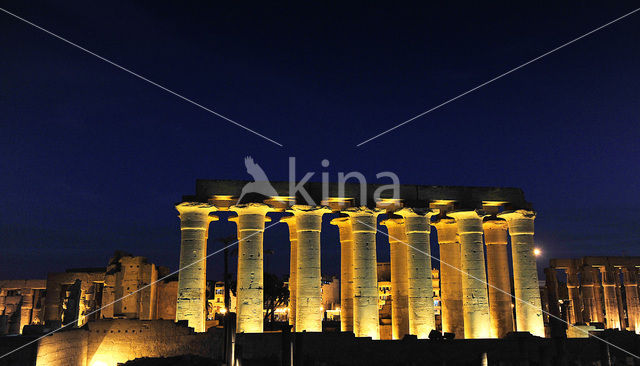
[[[262,333],[264,303],[264,256],[262,239],[265,216],[271,208],[262,203],[231,206],[238,214],[238,284],[236,333]]]

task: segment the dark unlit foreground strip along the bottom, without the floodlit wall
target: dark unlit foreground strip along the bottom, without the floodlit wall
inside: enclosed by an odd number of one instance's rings
[[[236,359],[241,366],[395,366],[395,365],[639,365],[640,336],[604,331],[595,338],[538,338],[513,333],[504,339],[372,341],[351,333],[240,334]],[[2,354],[33,337],[0,337]],[[615,345],[625,351],[608,345]],[[220,350],[220,345],[211,345]],[[31,344],[0,359],[0,366],[36,365],[37,345]],[[140,358],[127,366],[222,365],[221,354]],[[60,363],[64,366],[93,366]],[[38,365],[40,366],[40,365]],[[57,366],[47,364],[44,366]]]

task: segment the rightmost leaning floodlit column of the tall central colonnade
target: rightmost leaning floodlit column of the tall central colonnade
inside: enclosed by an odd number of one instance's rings
[[[516,297],[516,330],[544,337],[540,284],[538,283],[536,257],[533,254],[535,212],[517,210],[498,216],[507,220],[511,235],[513,292]]]

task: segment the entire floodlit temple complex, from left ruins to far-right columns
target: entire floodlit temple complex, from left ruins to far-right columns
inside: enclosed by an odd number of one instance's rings
[[[198,180],[195,194],[176,204],[177,275],[116,252],[103,268],[0,281],[0,352],[20,349],[0,366],[116,366],[181,355],[283,366],[628,357],[585,339],[594,332],[625,349],[640,347],[640,257],[552,259],[541,284],[535,212],[520,189],[402,185],[391,197],[380,185],[307,183],[307,194],[289,196],[289,184],[275,182],[275,194],[263,196],[243,194],[246,184]],[[238,240],[228,309],[224,283],[206,277],[207,241],[221,220],[236,225]],[[288,325],[265,331],[263,239],[279,222],[291,248],[280,259],[290,265]],[[323,279],[322,230],[335,231],[339,280]],[[389,251],[389,263],[379,261],[378,249]],[[212,320],[212,306],[231,313],[225,327]]]

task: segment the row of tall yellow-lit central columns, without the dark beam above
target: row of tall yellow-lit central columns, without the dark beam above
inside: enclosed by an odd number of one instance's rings
[[[216,208],[182,203],[182,249],[176,320],[187,320],[204,331],[205,258],[209,223]],[[262,236],[266,204],[231,206],[237,217],[237,332],[263,331]],[[324,207],[294,205],[282,219],[291,240],[290,323],[296,332],[322,331],[320,231]],[[353,207],[332,220],[341,243],[341,329],[356,337],[379,337],[376,258],[377,217],[383,210]],[[436,328],[431,279],[430,234],[433,212],[402,208],[387,226],[391,253],[392,334],[427,338]],[[442,327],[465,338],[501,337],[513,328],[507,233],[511,235],[516,297],[516,329],[544,336],[544,325],[533,257],[533,219],[528,211],[498,215],[484,221],[476,211],[449,213],[435,227],[441,254]],[[485,267],[483,236],[487,244]],[[193,264],[195,262],[195,264]],[[487,278],[488,275],[488,278]],[[487,287],[488,281],[488,287]]]

